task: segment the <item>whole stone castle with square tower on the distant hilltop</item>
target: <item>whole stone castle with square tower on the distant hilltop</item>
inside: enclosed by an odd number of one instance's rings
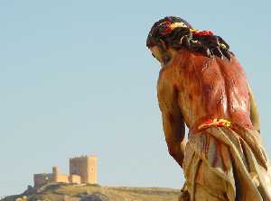
[[[97,157],[81,156],[70,159],[70,175],[61,174],[58,167],[52,173],[34,174],[34,187],[49,183],[97,184]]]

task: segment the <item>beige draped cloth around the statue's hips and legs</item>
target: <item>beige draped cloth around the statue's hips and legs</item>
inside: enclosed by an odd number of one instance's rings
[[[210,125],[188,138],[180,200],[271,201],[271,168],[259,132]]]

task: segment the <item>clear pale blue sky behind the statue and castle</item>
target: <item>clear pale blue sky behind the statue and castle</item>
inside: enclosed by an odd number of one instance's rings
[[[98,156],[102,186],[174,187],[156,98],[153,23],[177,15],[222,36],[247,72],[271,154],[270,6],[258,1],[1,1],[0,196],[70,157]]]

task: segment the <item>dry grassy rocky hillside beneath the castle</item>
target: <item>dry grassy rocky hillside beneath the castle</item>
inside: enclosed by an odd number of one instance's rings
[[[29,187],[22,195],[1,201],[177,201],[179,190],[161,187],[99,187],[51,184]]]

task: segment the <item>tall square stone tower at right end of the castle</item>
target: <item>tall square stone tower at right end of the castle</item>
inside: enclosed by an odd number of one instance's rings
[[[81,183],[97,184],[97,157],[83,156],[70,159],[70,175],[79,175]]]

